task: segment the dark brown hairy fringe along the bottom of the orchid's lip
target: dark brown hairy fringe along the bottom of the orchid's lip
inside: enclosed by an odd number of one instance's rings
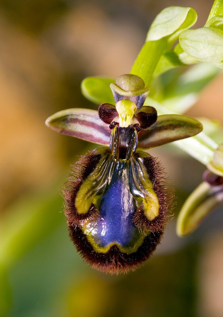
[[[93,250],[86,235],[78,226],[74,227],[68,221],[68,230],[71,241],[82,258],[92,268],[109,274],[127,273],[129,270],[134,271],[139,268],[155,251],[163,234],[162,231],[151,232],[149,236],[145,237],[137,252],[131,254],[121,253],[117,246],[112,246],[106,253],[99,253]]]

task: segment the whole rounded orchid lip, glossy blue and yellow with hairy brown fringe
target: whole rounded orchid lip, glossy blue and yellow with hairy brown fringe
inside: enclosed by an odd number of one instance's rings
[[[159,204],[167,199],[160,168],[148,153],[116,160],[106,147],[73,166],[65,184],[65,215],[73,243],[92,267],[127,272],[155,250],[167,212]],[[144,227],[142,217],[133,219],[139,206],[148,219]]]

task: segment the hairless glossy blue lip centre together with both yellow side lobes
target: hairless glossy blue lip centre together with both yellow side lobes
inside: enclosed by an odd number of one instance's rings
[[[83,233],[95,252],[105,253],[112,245],[136,252],[145,235],[133,223],[135,211],[143,204],[148,220],[159,215],[158,197],[143,164],[150,155],[139,152],[129,160],[115,160],[107,148],[95,153],[101,159],[77,191],[75,206],[78,214],[87,214],[94,204],[99,216],[81,227]]]

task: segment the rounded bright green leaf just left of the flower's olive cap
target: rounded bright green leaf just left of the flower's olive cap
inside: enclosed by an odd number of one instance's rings
[[[87,77],[81,82],[81,92],[85,98],[97,105],[100,105],[101,103],[115,105],[110,88],[111,83],[115,83],[115,80],[112,78]]]

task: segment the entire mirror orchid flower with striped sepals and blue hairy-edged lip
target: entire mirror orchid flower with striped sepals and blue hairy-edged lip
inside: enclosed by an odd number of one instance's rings
[[[84,260],[118,274],[152,255],[173,206],[163,166],[142,150],[194,136],[202,125],[143,106],[149,88],[137,75],[121,75],[110,87],[115,106],[63,110],[46,126],[104,146],[71,165],[64,210],[71,240]]]

